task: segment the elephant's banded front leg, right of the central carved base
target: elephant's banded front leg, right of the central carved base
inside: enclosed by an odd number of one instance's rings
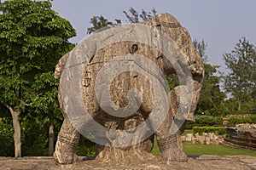
[[[166,120],[155,132],[160,156],[166,161],[188,161],[188,156],[179,147],[180,140],[177,138],[179,138],[180,133],[170,133],[172,123],[172,114],[168,114]]]

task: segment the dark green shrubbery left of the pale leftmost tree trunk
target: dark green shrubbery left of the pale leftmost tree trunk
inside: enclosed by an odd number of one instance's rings
[[[0,156],[15,156],[11,118],[0,118]]]

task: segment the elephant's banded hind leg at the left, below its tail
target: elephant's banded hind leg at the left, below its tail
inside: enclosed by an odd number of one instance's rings
[[[55,145],[55,153],[53,155],[55,161],[61,164],[71,164],[78,161],[76,149],[79,144],[79,138],[79,132],[65,118]]]

